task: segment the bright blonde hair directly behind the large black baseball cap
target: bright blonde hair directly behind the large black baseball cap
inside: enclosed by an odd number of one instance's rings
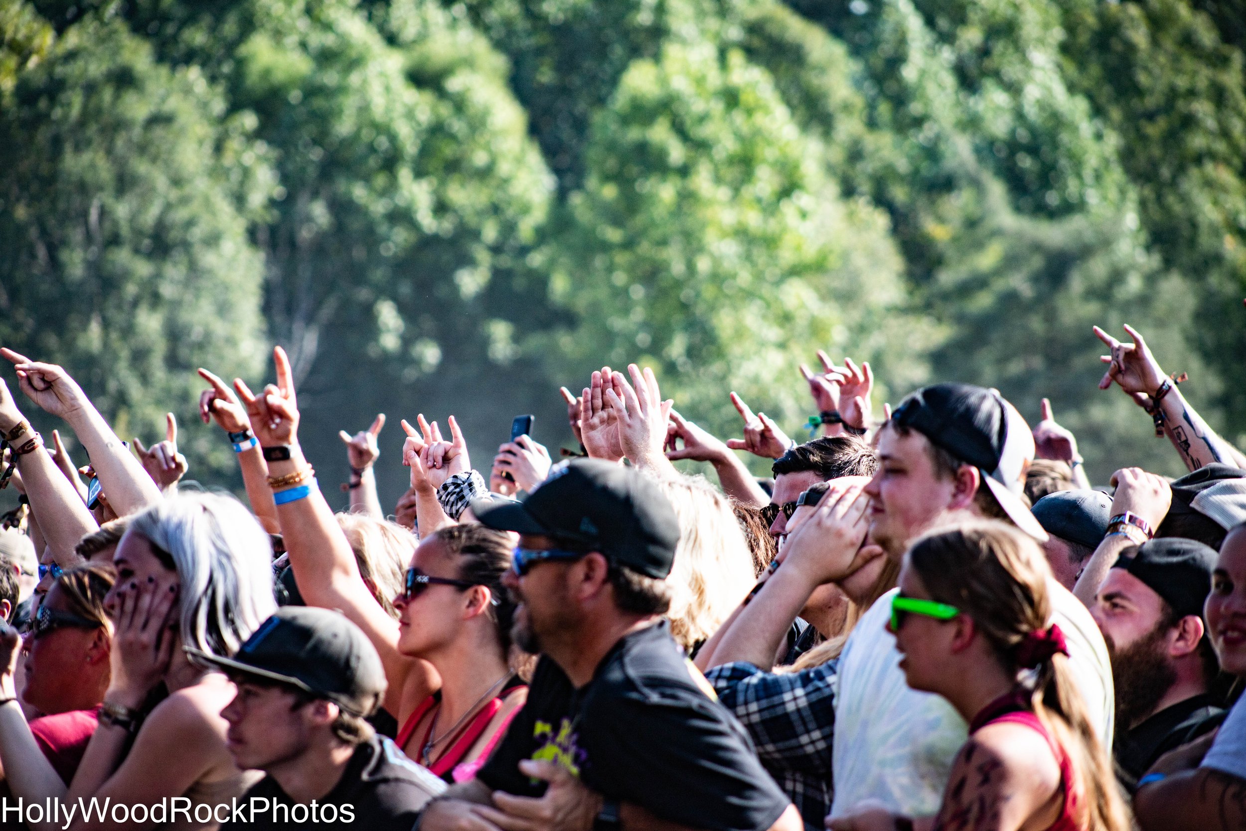
[[[754,584],[753,553],[731,503],[700,476],[654,480],[679,518],[679,546],[667,577],[670,634],[684,648],[718,632]]]

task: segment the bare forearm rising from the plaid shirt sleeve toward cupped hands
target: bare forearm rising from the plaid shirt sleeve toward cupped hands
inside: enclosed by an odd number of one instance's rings
[[[743,660],[770,669],[775,653],[787,634],[787,627],[809,602],[816,586],[810,586],[795,569],[779,568],[723,635],[710,665]]]

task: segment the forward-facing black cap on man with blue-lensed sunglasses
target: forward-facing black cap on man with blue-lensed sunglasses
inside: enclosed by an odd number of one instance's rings
[[[658,486],[599,458],[554,466],[523,502],[480,498],[471,510],[490,528],[554,537],[657,579],[679,544],[679,520]]]

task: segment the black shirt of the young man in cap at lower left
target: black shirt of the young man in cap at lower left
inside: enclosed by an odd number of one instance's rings
[[[445,789],[445,782],[431,771],[404,756],[389,739],[378,736],[355,749],[341,779],[324,799],[297,804],[277,780],[264,776],[238,797],[237,806],[244,816],[231,817],[221,831],[346,826],[411,831],[425,802]]]

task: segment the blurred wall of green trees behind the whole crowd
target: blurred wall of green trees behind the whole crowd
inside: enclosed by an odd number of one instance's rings
[[[0,343],[120,431],[294,361],[304,439],[511,417],[640,360],[738,435],[797,365],[1052,399],[1091,477],[1177,473],[1118,391],[1130,323],[1246,444],[1241,0],[0,0]],[[40,422],[41,426],[44,422]],[[52,425],[46,425],[52,426]],[[80,460],[85,461],[85,460]],[[760,467],[759,467],[760,470]],[[341,497],[344,503],[345,497]]]

